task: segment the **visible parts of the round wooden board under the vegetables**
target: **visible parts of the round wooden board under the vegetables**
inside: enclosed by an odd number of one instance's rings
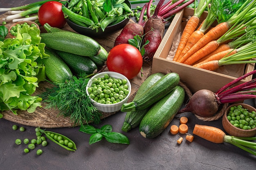
[[[5,18],[9,13],[4,13],[0,15],[0,20],[2,18]],[[134,22],[133,20],[130,20],[130,22]],[[9,28],[9,26],[12,24],[12,22],[7,22],[6,27]],[[66,24],[63,27],[64,30],[74,31],[73,29]],[[43,26],[40,26],[41,32],[46,32]],[[114,35],[111,35],[106,38],[94,38],[101,46],[103,46],[108,52],[110,49],[113,48],[115,39],[119,35],[119,33],[115,33]],[[8,35],[7,35],[7,38]],[[134,95],[137,92],[137,89],[141,84],[144,82],[144,80],[151,74],[151,66],[152,61],[150,62],[144,62],[143,63],[143,73],[144,75],[141,77],[140,74],[137,75],[137,77],[130,80],[132,89],[131,94],[129,96],[128,102],[132,101]],[[100,68],[99,68],[100,69]],[[108,71],[108,68],[104,69],[104,71]],[[35,95],[38,95],[42,93],[43,91],[46,91],[47,88],[51,87],[51,84],[48,82],[40,82],[39,87],[37,88]],[[46,109],[45,104],[42,102],[41,108],[37,108],[34,113],[28,113],[27,111],[18,110],[18,115],[14,115],[11,111],[4,111],[2,112],[3,118],[7,119],[9,121],[16,122],[18,124],[27,125],[27,126],[34,126],[34,127],[44,127],[44,128],[61,128],[61,127],[74,127],[72,121],[70,121],[69,117],[63,117],[58,116],[59,111],[54,109]],[[101,119],[104,119],[110,115],[113,115],[115,113],[102,113]]]

